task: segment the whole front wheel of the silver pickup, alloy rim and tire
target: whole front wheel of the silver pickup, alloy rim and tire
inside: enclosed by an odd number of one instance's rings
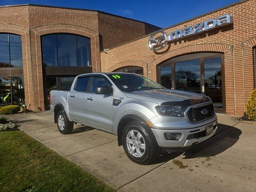
[[[138,164],[149,164],[160,152],[153,133],[142,122],[128,123],[122,133],[122,144],[128,158]]]

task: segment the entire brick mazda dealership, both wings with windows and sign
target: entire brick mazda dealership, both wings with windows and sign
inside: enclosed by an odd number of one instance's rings
[[[100,71],[140,73],[166,88],[203,93],[216,112],[233,115],[244,113],[255,88],[256,0],[164,29],[95,10],[0,10],[2,106],[22,99],[31,110],[46,110],[50,90]]]

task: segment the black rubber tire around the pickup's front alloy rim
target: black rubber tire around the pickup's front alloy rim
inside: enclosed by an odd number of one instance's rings
[[[134,130],[135,134],[136,132],[140,133],[142,135],[143,140],[141,140],[142,142],[144,141],[145,143],[145,150],[142,150],[143,155],[141,157],[137,157],[138,153],[137,153],[137,147],[135,149],[135,153],[131,154],[129,152],[128,149],[128,144],[126,143],[126,137],[128,136],[129,132]],[[138,136],[137,133],[137,136]],[[130,135],[130,134],[129,134]],[[132,138],[132,137],[131,137]],[[142,144],[142,142],[140,142]],[[143,124],[142,122],[139,121],[133,121],[128,123],[123,130],[122,133],[122,144],[123,144],[123,148],[124,151],[126,153],[126,155],[128,156],[128,158],[130,160],[132,160],[133,162],[137,163],[137,164],[141,164],[141,165],[146,165],[146,164],[150,164],[152,161],[154,161],[156,159],[156,157],[158,156],[159,152],[160,152],[160,147],[158,146],[156,139],[154,137],[154,134],[152,133],[151,130],[149,130],[145,124]],[[130,146],[136,146],[136,144],[130,144]],[[131,148],[131,147],[130,147]],[[140,152],[141,154],[141,152]]]

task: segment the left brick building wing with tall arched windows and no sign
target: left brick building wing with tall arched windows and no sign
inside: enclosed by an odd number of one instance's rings
[[[96,10],[0,6],[0,104],[48,109],[50,90],[101,71],[100,51],[159,29]]]

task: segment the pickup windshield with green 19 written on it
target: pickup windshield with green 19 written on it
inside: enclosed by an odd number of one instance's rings
[[[108,74],[108,77],[118,86],[121,91],[132,92],[138,90],[164,89],[158,83],[149,78],[131,73]]]

